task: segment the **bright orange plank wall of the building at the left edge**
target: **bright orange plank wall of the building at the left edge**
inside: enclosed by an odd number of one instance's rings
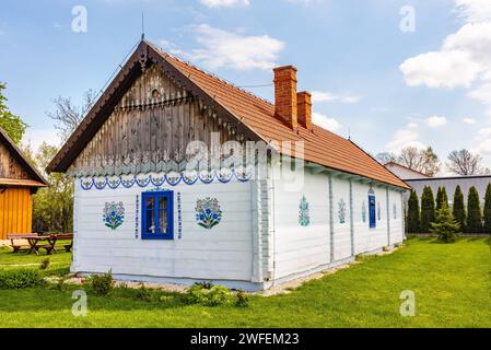
[[[7,188],[0,192],[0,240],[9,233],[31,233],[33,201],[28,188]]]

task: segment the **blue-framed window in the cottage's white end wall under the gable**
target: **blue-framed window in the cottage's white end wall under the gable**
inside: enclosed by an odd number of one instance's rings
[[[141,200],[141,238],[174,240],[174,192],[143,192]]]

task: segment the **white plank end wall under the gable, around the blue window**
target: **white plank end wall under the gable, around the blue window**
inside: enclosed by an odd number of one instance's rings
[[[152,186],[83,190],[77,180],[74,262],[72,270],[166,278],[250,281],[253,267],[252,183],[179,184],[174,190],[174,240],[141,240],[141,192]],[[183,234],[177,237],[177,192],[182,196]],[[136,200],[140,195],[138,222]],[[197,225],[196,201],[219,200],[223,219],[212,230]],[[105,202],[122,201],[124,224],[116,231],[103,222]],[[138,237],[136,237],[138,228]]]

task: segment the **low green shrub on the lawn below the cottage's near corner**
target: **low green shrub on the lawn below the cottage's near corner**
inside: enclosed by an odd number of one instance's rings
[[[230,289],[223,285],[212,285],[211,283],[195,283],[187,291],[187,300],[191,304],[206,306],[231,305],[234,299]]]

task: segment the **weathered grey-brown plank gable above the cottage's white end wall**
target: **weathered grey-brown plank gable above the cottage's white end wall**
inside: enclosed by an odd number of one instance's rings
[[[153,98],[155,91],[159,97]],[[221,142],[236,139],[224,122],[153,66],[125,94],[70,170],[182,162],[188,142],[210,145],[211,132],[220,132]]]

